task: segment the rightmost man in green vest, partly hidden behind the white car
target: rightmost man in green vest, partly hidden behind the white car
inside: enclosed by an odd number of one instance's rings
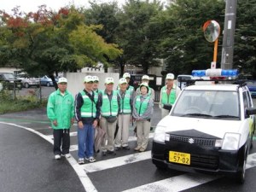
[[[179,87],[174,84],[174,74],[168,73],[166,75],[166,85],[160,90],[159,107],[161,109],[162,119],[169,113],[164,107],[164,104],[171,104],[176,101],[177,96],[180,94]]]

